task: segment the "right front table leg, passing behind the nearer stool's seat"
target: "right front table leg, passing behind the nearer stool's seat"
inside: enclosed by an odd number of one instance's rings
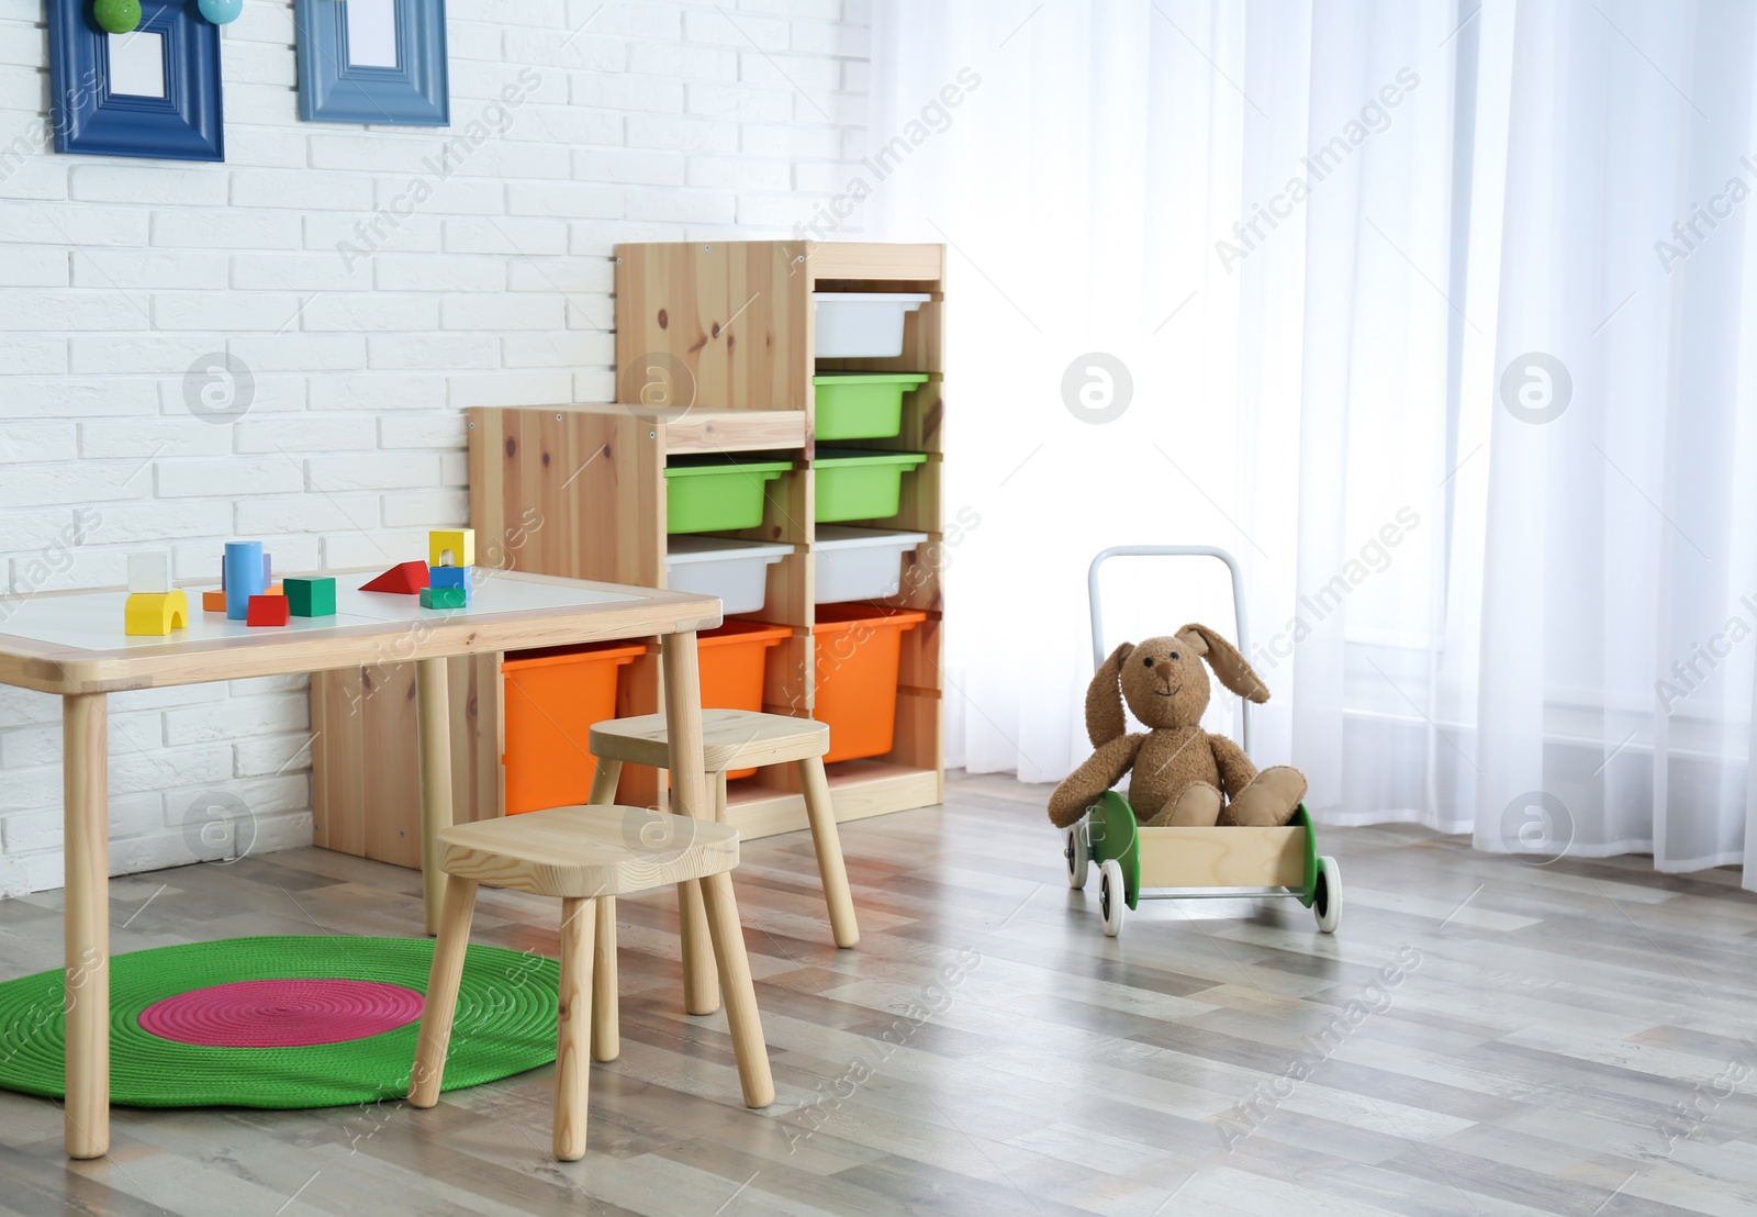
[[[659,638],[664,674],[666,742],[671,758],[671,811],[678,816],[713,820],[708,798],[706,758],[701,751],[701,672],[696,665],[696,631]],[[712,1015],[720,1008],[720,985],[713,969],[708,918],[696,883],[676,885],[678,934],[683,941],[683,1009]]]

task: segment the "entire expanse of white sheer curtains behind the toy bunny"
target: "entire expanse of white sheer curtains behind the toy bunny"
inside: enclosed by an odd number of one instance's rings
[[[1748,5],[873,18],[864,229],[952,250],[954,763],[1065,774],[1091,554],[1221,543],[1276,693],[1253,751],[1321,818],[1745,860]],[[1095,352],[1110,422],[1066,401],[1103,404]],[[1119,587],[1140,628],[1226,624],[1182,575]]]

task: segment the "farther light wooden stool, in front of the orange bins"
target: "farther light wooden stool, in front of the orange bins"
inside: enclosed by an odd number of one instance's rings
[[[666,737],[664,714],[618,718],[594,723],[590,735],[597,772],[592,776],[590,802],[611,804],[617,798],[617,779],[622,765],[652,765],[671,769],[671,746]],[[829,781],[824,777],[824,753],[829,751],[829,726],[806,718],[785,714],[757,714],[754,711],[703,711],[701,742],[708,774],[713,777],[713,814],[726,821],[726,770],[752,765],[778,765],[798,762],[799,784],[805,791],[805,816],[812,825],[812,844],[817,848],[817,874],[824,881],[824,902],[829,906],[829,932],[836,946],[854,946],[861,941],[854,922],[854,899],[849,895],[849,872],[842,862],[842,837],[836,834],[836,813],[829,804]],[[699,944],[701,904],[691,885],[676,890],[678,916],[691,927],[683,934],[683,1008],[692,1015],[712,1015],[720,1006],[713,987],[713,960],[705,958]],[[610,929],[608,950],[615,953],[615,918],[606,918]],[[610,1060],[615,1057],[599,1057]]]

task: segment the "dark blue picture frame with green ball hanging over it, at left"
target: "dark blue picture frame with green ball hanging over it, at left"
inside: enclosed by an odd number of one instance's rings
[[[146,0],[141,32],[163,39],[165,95],[112,93],[109,33],[90,0],[49,4],[49,118],[54,151],[225,160],[220,26],[195,0]],[[128,35],[119,35],[128,37]]]

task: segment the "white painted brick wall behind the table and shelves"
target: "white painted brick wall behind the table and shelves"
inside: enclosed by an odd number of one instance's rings
[[[866,0],[448,9],[453,127],[365,128],[299,121],[292,0],[246,0],[228,164],[188,165],[33,149],[44,9],[0,0],[9,591],[119,584],[144,547],[209,577],[234,538],[278,570],[422,552],[466,517],[464,406],[613,392],[617,241],[789,236],[861,155]],[[184,406],[218,352],[255,376],[230,424]],[[111,698],[114,872],[193,858],[214,795],[257,851],[309,841],[302,679]],[[60,798],[58,700],[0,689],[0,895],[60,886]]]

